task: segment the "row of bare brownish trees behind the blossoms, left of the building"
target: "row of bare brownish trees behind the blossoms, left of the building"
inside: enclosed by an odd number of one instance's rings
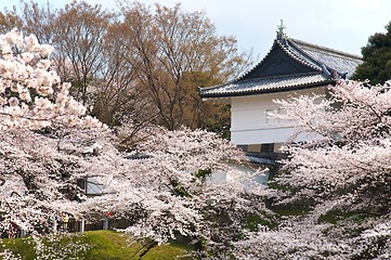
[[[109,126],[131,122],[227,133],[227,105],[201,102],[251,65],[232,36],[218,36],[204,12],[123,2],[118,11],[84,1],[53,8],[21,1],[0,12],[0,32],[18,28],[55,47],[51,58],[71,94]]]

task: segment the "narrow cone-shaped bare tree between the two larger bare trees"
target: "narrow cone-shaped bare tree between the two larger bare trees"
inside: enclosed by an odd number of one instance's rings
[[[132,122],[135,129],[147,126],[155,116],[144,90],[136,87],[136,68],[127,61],[132,52],[118,26],[108,27],[104,37],[104,66],[92,90],[93,114],[109,126]]]

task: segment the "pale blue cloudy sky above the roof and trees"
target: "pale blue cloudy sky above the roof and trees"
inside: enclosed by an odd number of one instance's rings
[[[37,0],[45,2],[45,0]],[[18,0],[0,0],[0,9],[11,8]],[[50,0],[62,6],[70,0]],[[112,0],[87,0],[104,8],[115,6]],[[390,0],[141,0],[168,6],[181,2],[185,11],[205,11],[219,35],[233,35],[242,50],[253,49],[265,55],[272,47],[279,21],[286,34],[296,39],[361,54],[361,48],[375,32],[385,32],[391,21]]]

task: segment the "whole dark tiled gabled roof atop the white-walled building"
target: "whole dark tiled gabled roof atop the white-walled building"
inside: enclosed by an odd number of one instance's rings
[[[275,69],[275,76],[262,76],[262,72],[265,72],[262,69],[271,64],[271,60],[281,60],[281,54],[273,52],[276,49],[281,49],[283,52],[279,53],[285,53],[285,56],[301,66],[301,73],[287,69],[289,73],[284,74],[284,70]],[[334,83],[337,75],[350,78],[360,63],[361,58],[356,55],[277,36],[266,56],[247,74],[227,83],[200,88],[199,94],[201,98],[225,98],[325,86]],[[294,67],[297,65],[292,64]]]

